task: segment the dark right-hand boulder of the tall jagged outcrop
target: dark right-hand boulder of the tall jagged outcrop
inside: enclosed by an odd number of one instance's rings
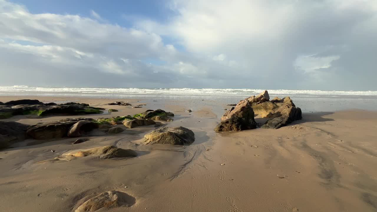
[[[282,126],[292,123],[293,121],[302,119],[302,113],[300,108],[296,108],[292,104],[284,104],[280,106],[276,111],[267,115],[268,120],[262,128],[278,129]]]

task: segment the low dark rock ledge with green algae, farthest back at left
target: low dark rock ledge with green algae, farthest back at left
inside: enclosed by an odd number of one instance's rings
[[[38,100],[17,100],[9,101],[0,107],[0,119],[10,118],[13,115],[84,115],[84,114],[101,114],[103,108],[90,107],[88,104],[80,103],[41,103]],[[20,104],[33,103],[33,104]],[[34,104],[35,103],[35,104]]]

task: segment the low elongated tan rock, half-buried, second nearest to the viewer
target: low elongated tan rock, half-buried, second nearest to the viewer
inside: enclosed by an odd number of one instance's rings
[[[86,157],[86,156],[98,156],[101,159],[108,158],[124,158],[124,157],[136,157],[138,154],[132,149],[121,149],[115,146],[101,146],[91,149],[77,149],[66,152],[62,155],[73,157]]]

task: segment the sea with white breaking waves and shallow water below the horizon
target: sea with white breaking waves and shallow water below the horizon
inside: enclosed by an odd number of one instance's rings
[[[215,101],[237,103],[264,89],[213,88],[71,88],[0,86],[0,96],[69,96],[81,98],[138,98],[153,100]],[[345,109],[377,110],[377,91],[268,90],[270,98],[289,96],[303,112],[334,112]],[[0,97],[1,101],[1,97]]]

